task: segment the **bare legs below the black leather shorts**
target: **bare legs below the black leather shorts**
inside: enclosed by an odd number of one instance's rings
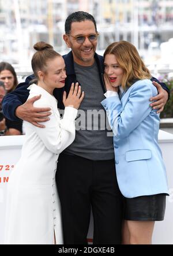
[[[123,244],[151,244],[154,225],[154,221],[125,221]]]

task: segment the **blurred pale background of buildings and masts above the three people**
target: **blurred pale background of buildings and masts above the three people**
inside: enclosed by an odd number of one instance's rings
[[[160,44],[173,38],[173,0],[0,0],[1,61],[27,66],[39,40],[66,53],[65,19],[77,10],[95,17],[100,51],[128,40],[145,57],[148,50],[159,54]]]

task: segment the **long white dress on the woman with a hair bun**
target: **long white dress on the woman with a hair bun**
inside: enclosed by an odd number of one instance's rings
[[[63,244],[55,172],[59,153],[74,140],[77,109],[65,107],[61,119],[54,96],[36,84],[28,89],[28,99],[42,94],[34,106],[51,107],[52,114],[41,123],[46,128],[24,122],[21,158],[7,185],[5,244],[54,244],[54,232],[57,244]]]

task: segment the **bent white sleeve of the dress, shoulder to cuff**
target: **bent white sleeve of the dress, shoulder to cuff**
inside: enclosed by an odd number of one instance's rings
[[[51,107],[45,98],[34,102],[34,106]],[[48,150],[52,153],[60,154],[75,138],[77,109],[74,109],[74,107],[65,107],[63,118],[61,120],[59,117],[58,121],[53,109],[51,112],[52,114],[49,116],[50,120],[40,123],[45,125],[46,128],[35,127],[35,131]]]

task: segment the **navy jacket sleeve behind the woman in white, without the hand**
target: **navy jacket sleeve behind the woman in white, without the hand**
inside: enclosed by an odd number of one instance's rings
[[[16,89],[9,94],[7,94],[2,101],[2,111],[6,118],[15,121],[18,117],[15,115],[15,110],[18,106],[22,105],[29,96],[29,82],[33,80],[35,76],[28,76],[24,83],[18,84]]]

